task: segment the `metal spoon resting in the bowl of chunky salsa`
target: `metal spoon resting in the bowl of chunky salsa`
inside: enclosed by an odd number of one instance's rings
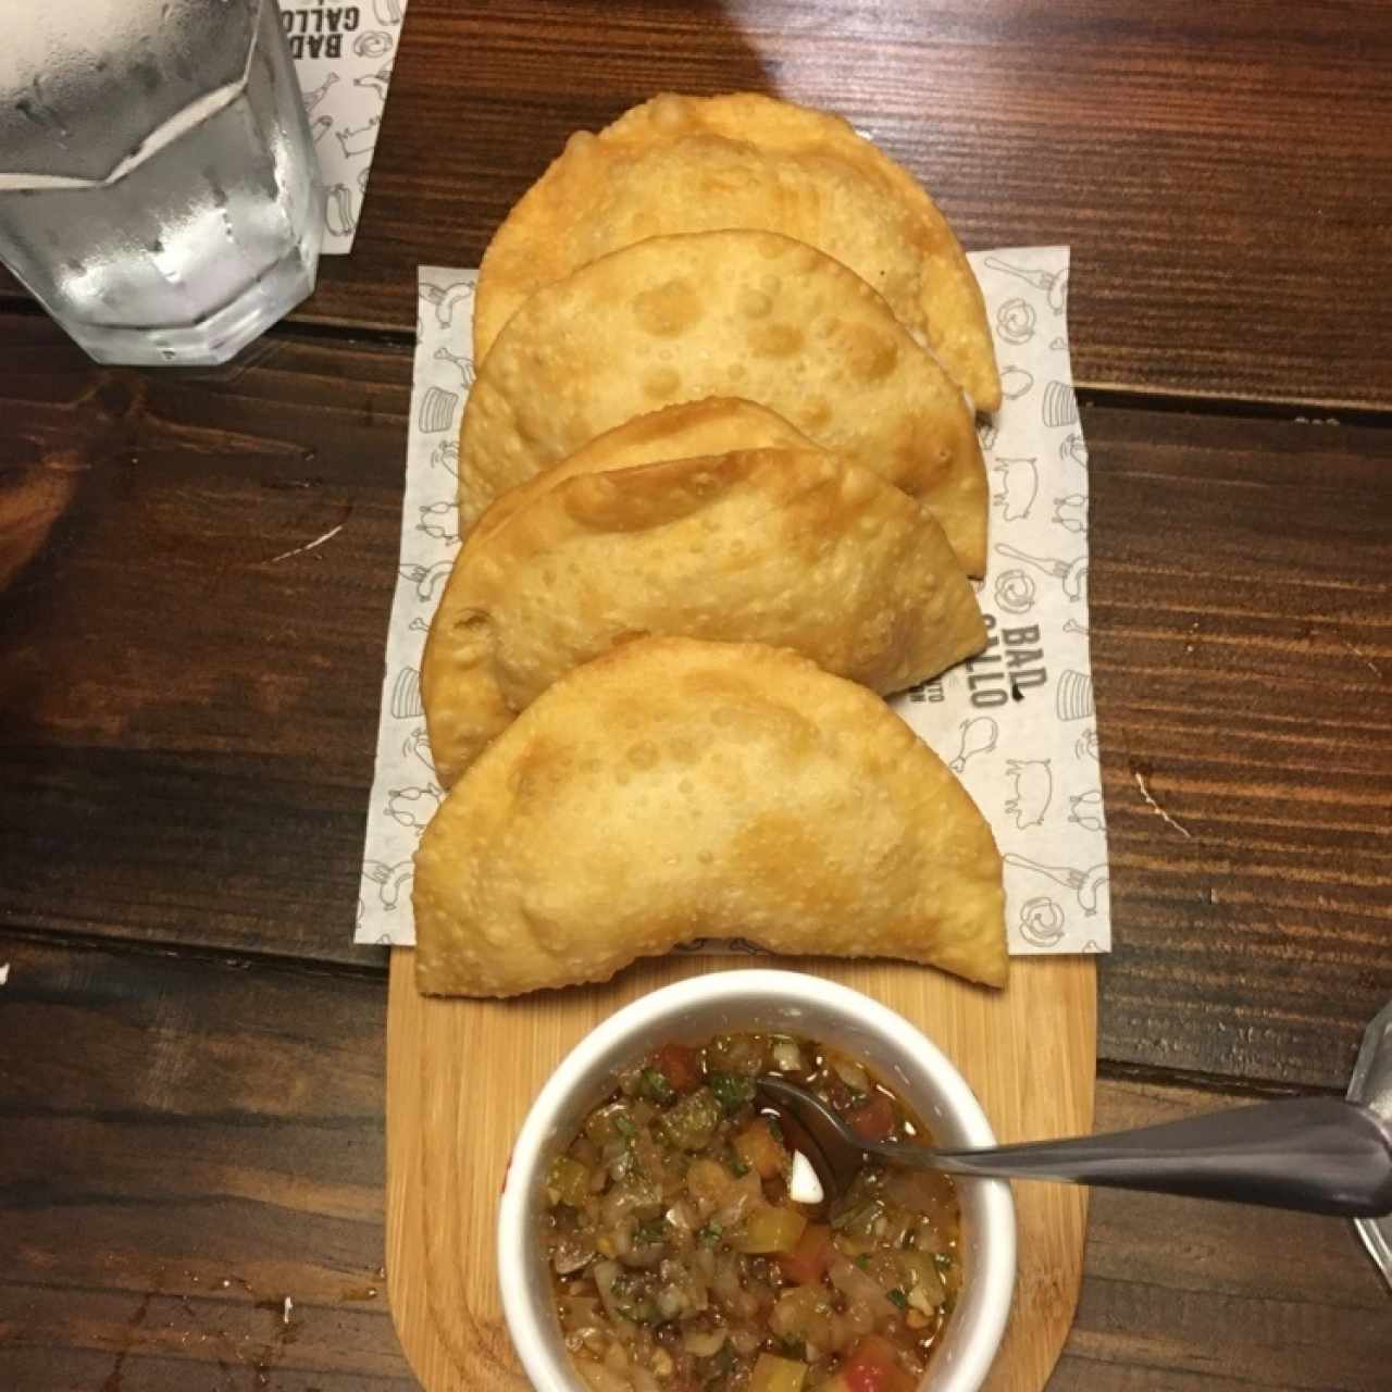
[[[1300,1097],[1069,1140],[930,1150],[862,1140],[820,1097],[782,1077],[759,1091],[835,1197],[866,1155],[949,1175],[1054,1179],[1368,1218],[1392,1212],[1392,1126],[1357,1102]]]

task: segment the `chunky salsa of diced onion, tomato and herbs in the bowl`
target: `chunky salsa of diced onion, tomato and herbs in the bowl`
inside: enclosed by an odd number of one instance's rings
[[[867,1161],[834,1201],[796,1201],[760,1073],[866,1137],[928,1140],[863,1065],[807,1038],[665,1044],[621,1073],[547,1173],[557,1311],[593,1392],[919,1385],[960,1285],[952,1180]]]

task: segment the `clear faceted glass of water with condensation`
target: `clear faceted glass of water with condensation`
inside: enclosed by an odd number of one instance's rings
[[[0,259],[97,362],[226,362],[313,290],[323,202],[276,0],[25,6],[0,45]]]

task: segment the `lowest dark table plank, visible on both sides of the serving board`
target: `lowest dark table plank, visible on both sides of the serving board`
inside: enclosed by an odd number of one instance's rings
[[[4,938],[0,962],[0,1385],[412,1386],[380,1276],[381,986]],[[1097,1121],[1233,1101],[1104,1082]],[[1347,1225],[1097,1193],[1051,1386],[1374,1392],[1389,1360]]]

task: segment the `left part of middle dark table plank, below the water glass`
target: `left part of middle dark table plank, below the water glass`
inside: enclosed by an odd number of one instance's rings
[[[100,372],[33,319],[6,361],[7,444],[81,483],[0,594],[0,915],[384,967],[348,924],[409,356]]]

